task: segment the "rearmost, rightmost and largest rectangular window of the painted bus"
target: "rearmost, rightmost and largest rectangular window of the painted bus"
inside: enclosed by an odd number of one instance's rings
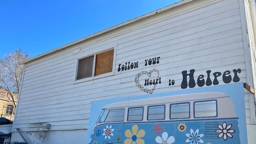
[[[201,117],[216,117],[217,116],[217,102],[216,100],[195,102],[194,103],[195,118]]]

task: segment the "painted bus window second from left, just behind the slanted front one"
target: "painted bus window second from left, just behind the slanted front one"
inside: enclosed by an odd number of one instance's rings
[[[128,121],[142,120],[142,119],[143,119],[143,107],[128,109]]]

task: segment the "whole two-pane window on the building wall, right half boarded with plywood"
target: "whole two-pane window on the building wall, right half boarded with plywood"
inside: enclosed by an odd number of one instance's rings
[[[76,80],[98,76],[113,69],[114,49],[78,60]]]

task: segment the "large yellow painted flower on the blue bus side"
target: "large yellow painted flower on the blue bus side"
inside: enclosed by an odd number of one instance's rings
[[[133,125],[132,126],[132,132],[128,129],[125,131],[125,136],[128,138],[124,140],[124,144],[144,144],[144,140],[140,139],[145,135],[145,131],[141,129],[138,132],[138,126]]]

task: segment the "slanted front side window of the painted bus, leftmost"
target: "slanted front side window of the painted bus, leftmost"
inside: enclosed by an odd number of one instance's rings
[[[115,121],[124,121],[124,109],[117,109],[117,110],[106,110],[107,117],[104,122],[115,122]],[[105,115],[105,112],[102,118]]]

